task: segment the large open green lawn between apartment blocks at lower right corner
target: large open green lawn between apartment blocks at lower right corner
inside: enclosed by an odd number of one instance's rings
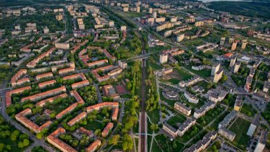
[[[236,133],[233,144],[238,146],[240,149],[245,149],[246,144],[249,141],[249,136],[246,135],[246,132],[249,130],[249,125],[251,122],[238,117],[237,120],[230,127],[230,131]]]

